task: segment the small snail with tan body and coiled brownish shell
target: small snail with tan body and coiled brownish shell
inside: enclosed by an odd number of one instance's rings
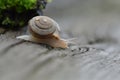
[[[28,22],[29,35],[18,36],[35,43],[48,44],[52,47],[68,48],[68,40],[60,37],[60,27],[56,21],[47,16],[36,16]]]

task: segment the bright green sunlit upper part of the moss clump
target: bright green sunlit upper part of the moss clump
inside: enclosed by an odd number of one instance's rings
[[[14,7],[17,12],[34,9],[36,0],[0,0],[0,9]]]

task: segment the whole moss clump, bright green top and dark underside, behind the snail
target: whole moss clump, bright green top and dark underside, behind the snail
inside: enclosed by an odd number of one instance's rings
[[[37,0],[0,0],[0,27],[19,29],[25,26],[29,19],[38,15],[36,2]],[[42,5],[40,9],[43,9]]]

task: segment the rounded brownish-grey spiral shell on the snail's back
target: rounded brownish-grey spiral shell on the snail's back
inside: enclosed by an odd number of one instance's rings
[[[58,24],[47,16],[36,16],[29,21],[29,28],[42,36],[54,33],[58,27]]]

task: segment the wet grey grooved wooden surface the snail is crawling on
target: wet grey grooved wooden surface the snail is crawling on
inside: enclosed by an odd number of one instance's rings
[[[15,39],[21,34],[7,32],[0,36],[0,80],[120,79],[117,46],[98,44],[102,49],[95,45],[71,45],[69,49],[53,49]]]

